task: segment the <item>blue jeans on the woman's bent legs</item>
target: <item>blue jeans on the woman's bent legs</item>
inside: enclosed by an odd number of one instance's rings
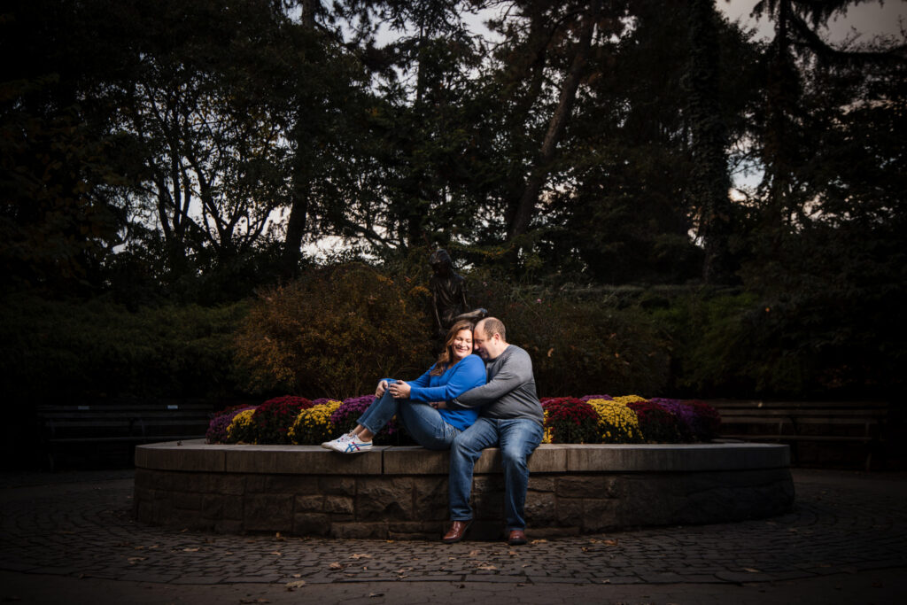
[[[378,434],[395,415],[415,443],[429,450],[448,449],[453,437],[460,434],[460,429],[447,424],[444,416],[431,405],[410,399],[395,399],[390,391],[385,391],[368,406],[359,417],[359,424]]]

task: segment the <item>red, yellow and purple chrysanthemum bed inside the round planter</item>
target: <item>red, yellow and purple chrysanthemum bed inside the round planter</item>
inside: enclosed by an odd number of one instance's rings
[[[316,445],[352,429],[374,397],[344,401],[285,396],[258,407],[223,410],[211,419],[210,444]],[[639,395],[544,397],[546,444],[640,444],[707,442],[721,424],[715,408],[700,401],[645,399]],[[376,444],[411,444],[392,421]]]

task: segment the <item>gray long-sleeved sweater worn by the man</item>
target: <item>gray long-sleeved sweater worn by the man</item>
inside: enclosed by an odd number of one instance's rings
[[[522,348],[509,345],[485,364],[488,382],[460,395],[448,405],[453,409],[483,405],[486,418],[532,418],[543,424],[539,395],[535,393],[532,358]]]

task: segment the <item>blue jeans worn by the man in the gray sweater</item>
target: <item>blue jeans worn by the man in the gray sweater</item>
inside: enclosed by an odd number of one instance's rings
[[[499,420],[480,417],[457,435],[451,446],[450,507],[452,521],[469,521],[473,509],[469,495],[473,488],[473,467],[486,447],[501,447],[504,471],[504,519],[507,531],[526,529],[523,510],[529,467],[526,459],[541,444],[541,424],[529,418]]]

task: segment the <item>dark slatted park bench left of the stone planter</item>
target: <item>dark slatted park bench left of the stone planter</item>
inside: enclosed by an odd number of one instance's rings
[[[63,459],[128,465],[137,444],[203,437],[212,411],[210,402],[200,401],[40,405],[45,464],[50,470]]]

